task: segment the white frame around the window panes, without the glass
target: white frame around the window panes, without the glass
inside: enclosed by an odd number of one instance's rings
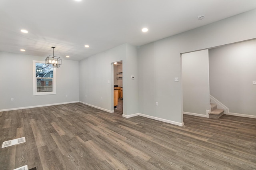
[[[36,96],[36,95],[54,95],[54,94],[56,94],[56,68],[52,68],[52,71],[53,71],[52,91],[37,92],[37,90],[36,90],[36,63],[45,63],[45,62],[33,60],[33,95]],[[43,77],[40,77],[40,78],[43,78]]]

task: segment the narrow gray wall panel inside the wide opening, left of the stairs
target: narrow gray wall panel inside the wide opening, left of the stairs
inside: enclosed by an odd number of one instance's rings
[[[210,105],[208,49],[182,54],[183,111],[206,115]]]

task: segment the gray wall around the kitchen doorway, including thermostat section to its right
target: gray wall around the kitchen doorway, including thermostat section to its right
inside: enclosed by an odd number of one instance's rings
[[[113,62],[123,61],[123,114],[138,113],[138,66],[136,47],[123,44],[79,62],[80,101],[113,111]],[[130,79],[136,76],[135,80]],[[108,83],[108,80],[110,83]],[[102,97],[102,100],[101,100]]]

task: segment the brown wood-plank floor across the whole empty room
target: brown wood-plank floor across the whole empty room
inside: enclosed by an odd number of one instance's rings
[[[0,112],[0,169],[252,170],[256,119],[184,115],[179,127],[81,103]]]

